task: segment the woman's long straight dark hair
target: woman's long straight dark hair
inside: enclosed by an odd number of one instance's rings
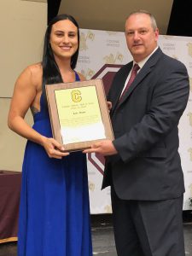
[[[52,29],[52,26],[60,20],[70,20],[73,22],[74,26],[77,26],[78,28],[78,49],[75,52],[75,54],[72,56],[71,60],[71,67],[74,69],[76,67],[76,63],[78,60],[79,55],[79,25],[77,21],[73,18],[71,15],[57,15],[53,20],[50,20],[47,30],[45,32],[44,36],[44,55],[43,55],[43,93],[44,93],[44,85],[45,84],[57,84],[62,83],[61,73],[59,70],[59,67],[57,66],[55,62],[55,57],[53,54],[53,51],[51,49],[51,46],[49,44],[50,39],[50,32]]]

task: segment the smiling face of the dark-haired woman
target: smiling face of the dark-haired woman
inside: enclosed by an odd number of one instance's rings
[[[57,21],[51,29],[49,44],[55,57],[71,59],[78,49],[78,28],[70,20]]]

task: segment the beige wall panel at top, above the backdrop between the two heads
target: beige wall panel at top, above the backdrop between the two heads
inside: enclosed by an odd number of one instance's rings
[[[59,13],[73,15],[79,27],[86,29],[125,31],[125,19],[137,9],[151,12],[161,34],[166,34],[173,0],[61,0]]]

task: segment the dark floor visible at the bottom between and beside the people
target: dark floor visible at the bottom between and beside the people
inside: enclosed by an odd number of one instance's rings
[[[93,256],[117,256],[114,247],[111,215],[91,216],[91,223]],[[192,256],[192,212],[186,211],[183,214],[183,230],[185,255]],[[0,256],[16,256],[16,247],[16,242],[0,244]]]

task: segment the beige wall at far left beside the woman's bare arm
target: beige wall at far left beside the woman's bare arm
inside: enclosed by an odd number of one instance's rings
[[[26,140],[7,127],[10,98],[21,71],[41,60],[46,22],[47,3],[0,1],[0,170],[21,170]],[[32,123],[30,113],[26,120]]]

